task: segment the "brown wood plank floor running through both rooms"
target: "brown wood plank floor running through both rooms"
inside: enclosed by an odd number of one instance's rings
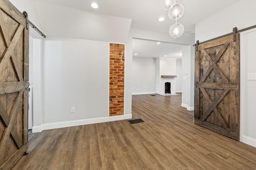
[[[14,170],[253,170],[256,148],[193,123],[178,96],[132,96],[127,120],[45,130]]]

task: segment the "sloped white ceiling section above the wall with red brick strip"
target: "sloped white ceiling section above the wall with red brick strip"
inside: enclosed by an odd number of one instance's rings
[[[40,26],[46,35],[125,43],[131,19],[66,6],[35,2]]]

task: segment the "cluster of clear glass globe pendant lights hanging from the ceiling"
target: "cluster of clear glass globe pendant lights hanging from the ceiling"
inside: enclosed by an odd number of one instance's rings
[[[172,1],[172,2],[171,2]],[[170,6],[169,4],[172,5]],[[171,20],[175,20],[176,23],[172,24],[169,29],[169,34],[173,38],[178,38],[184,33],[184,26],[181,23],[178,23],[183,14],[184,14],[184,6],[176,2],[176,0],[161,0],[161,6],[164,10],[169,8],[168,16]]]

